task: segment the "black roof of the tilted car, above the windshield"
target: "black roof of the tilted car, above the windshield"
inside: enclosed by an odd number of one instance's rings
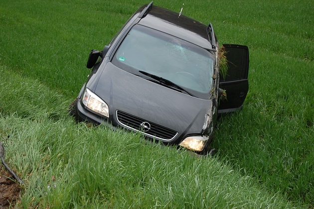
[[[214,49],[208,40],[206,25],[166,8],[152,5],[149,12],[138,24],[168,33],[202,48]]]

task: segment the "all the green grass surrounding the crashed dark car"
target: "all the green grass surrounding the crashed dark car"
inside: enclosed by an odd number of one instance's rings
[[[148,2],[0,0],[0,141],[25,182],[15,207],[313,208],[311,0],[154,2],[175,11],[184,3],[220,43],[250,49],[244,108],[218,121],[213,157],[67,114],[90,50]]]

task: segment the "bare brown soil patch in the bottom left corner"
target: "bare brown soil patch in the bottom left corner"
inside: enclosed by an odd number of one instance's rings
[[[14,177],[9,172],[0,168],[0,209],[8,209],[19,200],[21,187],[12,179]]]

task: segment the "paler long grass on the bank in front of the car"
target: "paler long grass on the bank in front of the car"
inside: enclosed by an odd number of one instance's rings
[[[7,78],[5,87],[10,89],[4,94],[1,85],[1,100],[11,101],[10,109],[14,110],[1,109],[0,137],[8,164],[26,185],[17,207],[298,206],[280,194],[269,194],[255,179],[217,158],[197,158],[151,144],[139,134],[76,124],[64,113],[51,118],[51,109],[62,113],[67,108],[60,94],[3,67],[0,75]],[[24,83],[23,92],[31,97],[18,93],[19,83]],[[33,89],[38,86],[41,91]],[[54,104],[34,105],[52,100]],[[26,114],[20,109],[31,111]]]

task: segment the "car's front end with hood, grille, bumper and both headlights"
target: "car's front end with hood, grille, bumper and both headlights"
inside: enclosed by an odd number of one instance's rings
[[[82,89],[77,104],[81,120],[138,131],[165,143],[182,141],[195,151],[211,139],[212,100],[143,79],[110,62],[101,74],[102,85],[94,92],[88,84]]]

